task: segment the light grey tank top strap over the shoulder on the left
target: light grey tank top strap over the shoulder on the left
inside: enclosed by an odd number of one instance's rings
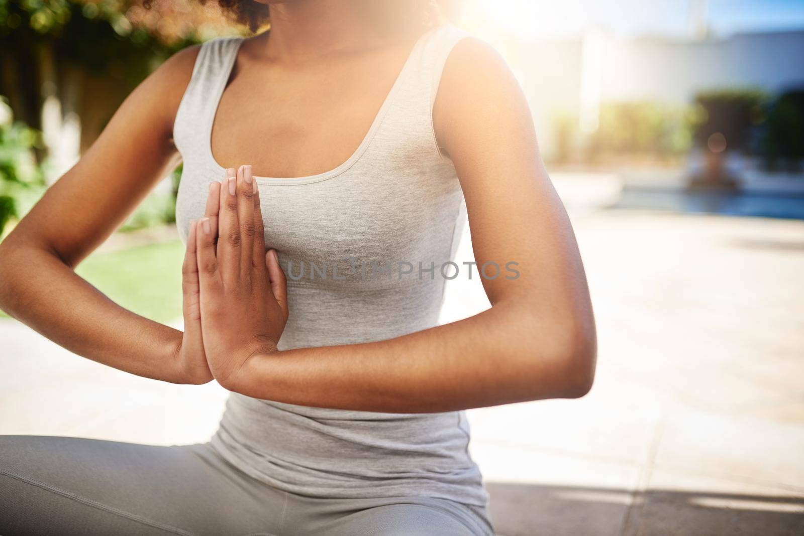
[[[203,43],[173,125],[174,144],[183,159],[202,159],[210,143],[212,121],[243,38],[223,37]]]

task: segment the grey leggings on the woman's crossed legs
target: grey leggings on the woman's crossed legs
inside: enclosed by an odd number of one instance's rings
[[[445,499],[280,491],[209,445],[0,436],[0,534],[487,536],[493,530],[486,509]]]

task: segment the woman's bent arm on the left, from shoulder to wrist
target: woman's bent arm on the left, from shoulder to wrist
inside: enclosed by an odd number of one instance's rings
[[[142,82],[0,243],[3,311],[76,354],[173,383],[211,378],[185,363],[182,332],[126,311],[73,270],[176,164],[173,123],[197,54],[179,52]]]

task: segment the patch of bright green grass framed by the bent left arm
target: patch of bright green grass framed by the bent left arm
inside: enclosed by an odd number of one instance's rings
[[[183,257],[173,240],[91,254],[76,273],[129,311],[167,323],[182,315]]]

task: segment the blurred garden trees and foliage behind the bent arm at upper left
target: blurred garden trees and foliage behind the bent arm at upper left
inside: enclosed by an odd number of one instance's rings
[[[15,118],[0,125],[0,229],[27,212],[45,179],[92,144],[162,61],[242,31],[215,2],[146,1],[0,0],[0,95]],[[170,193],[152,195],[124,229],[171,221],[173,210]]]

